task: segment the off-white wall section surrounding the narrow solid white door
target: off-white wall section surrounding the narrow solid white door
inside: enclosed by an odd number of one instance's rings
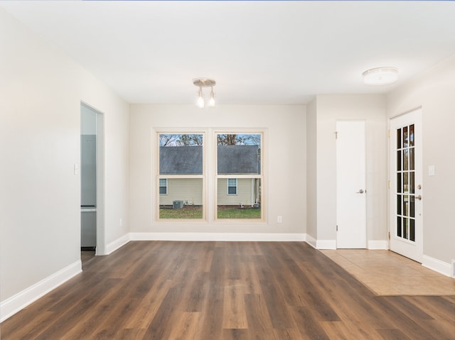
[[[353,119],[365,120],[366,124],[367,238],[384,242],[387,240],[385,97],[318,95],[315,100],[316,104],[312,105],[316,105],[317,239],[336,240],[336,121]]]

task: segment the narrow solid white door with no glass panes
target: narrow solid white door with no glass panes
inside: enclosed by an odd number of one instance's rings
[[[336,247],[366,248],[365,121],[336,131]]]

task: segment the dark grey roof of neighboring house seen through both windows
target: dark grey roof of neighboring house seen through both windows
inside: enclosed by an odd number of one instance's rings
[[[161,146],[160,175],[200,175],[203,170],[202,146]],[[259,174],[257,146],[218,146],[218,173]]]

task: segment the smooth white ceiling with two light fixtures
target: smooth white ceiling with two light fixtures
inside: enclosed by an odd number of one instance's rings
[[[131,103],[196,102],[196,77],[216,80],[218,104],[386,93],[455,54],[454,1],[0,1],[0,7]],[[365,86],[362,72],[379,66],[397,67],[400,80]]]

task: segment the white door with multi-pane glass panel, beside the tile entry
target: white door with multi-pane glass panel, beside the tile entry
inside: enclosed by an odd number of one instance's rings
[[[390,119],[390,250],[422,263],[422,110]]]

